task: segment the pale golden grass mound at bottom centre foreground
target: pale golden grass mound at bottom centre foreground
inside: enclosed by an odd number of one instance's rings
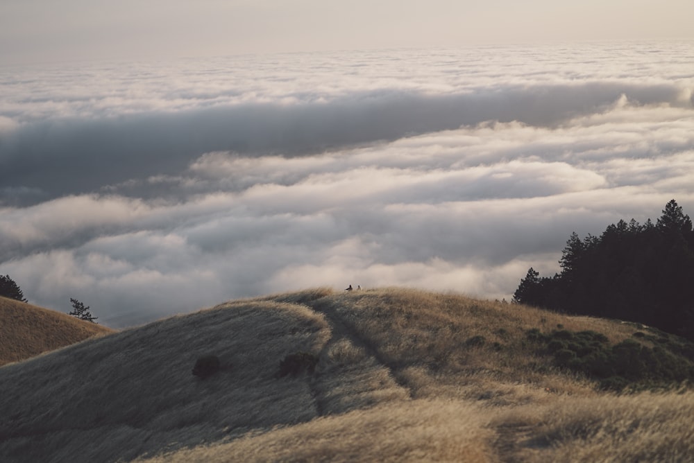
[[[493,433],[486,428],[488,421],[469,403],[398,403],[144,461],[492,462]]]

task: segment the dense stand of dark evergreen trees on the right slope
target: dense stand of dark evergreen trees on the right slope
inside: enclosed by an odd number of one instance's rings
[[[566,242],[554,277],[532,267],[514,302],[562,313],[617,318],[694,340],[694,231],[675,200],[654,224],[632,218],[600,236]]]

